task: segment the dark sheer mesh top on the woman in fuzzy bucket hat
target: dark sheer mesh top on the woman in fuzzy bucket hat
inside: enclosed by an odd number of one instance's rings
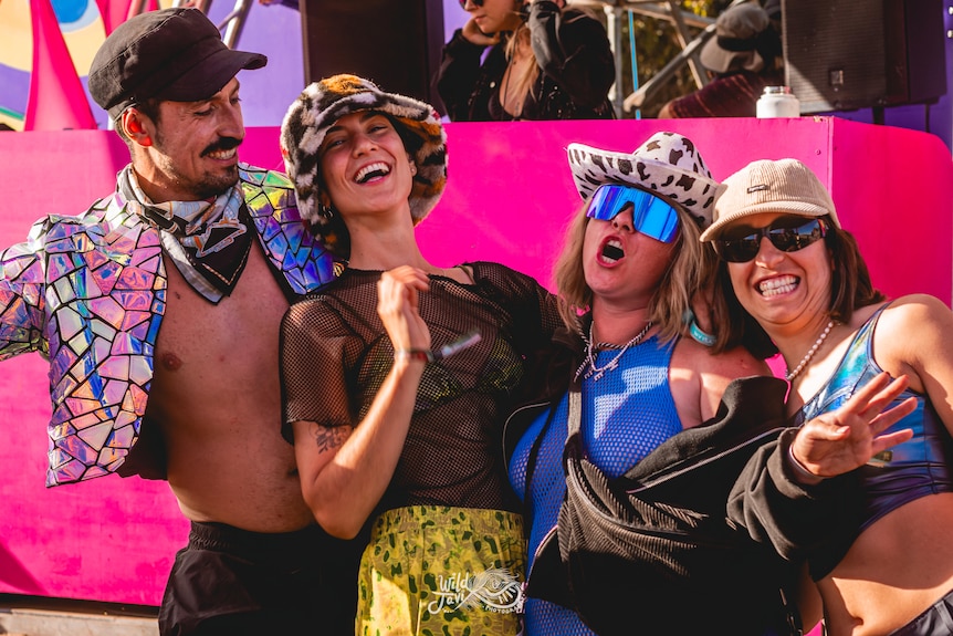
[[[555,296],[498,263],[468,265],[473,284],[430,277],[420,316],[436,351],[478,330],[475,345],[428,363],[404,451],[378,510],[447,504],[517,511],[506,478],[503,421],[524,365],[562,325]],[[291,423],[357,426],[394,359],[377,315],[379,271],[345,270],[289,309],[282,323],[283,432]]]

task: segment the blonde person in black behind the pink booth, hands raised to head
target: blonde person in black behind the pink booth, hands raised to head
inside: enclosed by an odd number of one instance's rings
[[[460,7],[470,20],[443,48],[434,79],[451,121],[614,117],[615,58],[591,14],[565,0],[461,0]]]

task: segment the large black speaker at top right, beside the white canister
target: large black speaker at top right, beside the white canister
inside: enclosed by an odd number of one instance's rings
[[[786,83],[802,114],[946,93],[942,0],[783,0]]]

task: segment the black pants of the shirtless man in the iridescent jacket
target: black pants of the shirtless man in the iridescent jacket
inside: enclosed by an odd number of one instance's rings
[[[163,636],[350,636],[363,545],[320,528],[260,534],[192,523],[159,611]]]

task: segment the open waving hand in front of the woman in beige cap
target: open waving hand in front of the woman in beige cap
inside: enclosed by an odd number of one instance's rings
[[[913,436],[909,428],[881,435],[915,409],[917,399],[911,397],[883,410],[907,384],[905,375],[891,382],[887,373],[879,374],[837,410],[807,421],[792,442],[793,458],[817,478],[834,477],[907,441]]]

